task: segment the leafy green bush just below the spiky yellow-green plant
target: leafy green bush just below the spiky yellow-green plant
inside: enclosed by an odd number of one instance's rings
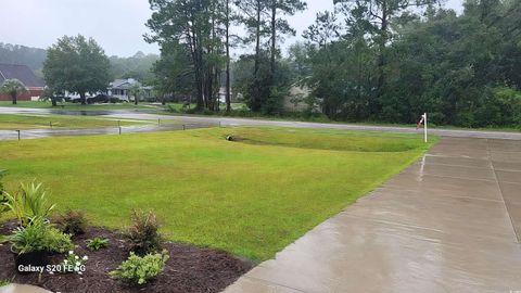
[[[26,227],[18,227],[8,240],[17,253],[64,253],[74,247],[71,235],[62,233],[41,218],[33,218]]]

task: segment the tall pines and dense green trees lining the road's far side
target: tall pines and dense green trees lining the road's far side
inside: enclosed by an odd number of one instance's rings
[[[412,123],[429,112],[440,125],[521,123],[519,0],[467,0],[460,15],[436,0],[334,3],[284,58],[280,43],[295,34],[285,16],[303,1],[150,0],[156,86],[211,111],[221,86],[266,114],[300,86],[307,112],[334,120]],[[246,34],[230,34],[237,26]],[[234,47],[250,52],[231,61]]]

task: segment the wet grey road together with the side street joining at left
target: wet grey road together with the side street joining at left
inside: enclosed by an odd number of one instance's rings
[[[284,120],[266,120],[266,119],[251,119],[251,118],[229,118],[216,116],[194,116],[194,115],[156,115],[148,114],[139,111],[97,111],[97,112],[81,112],[81,111],[54,111],[42,109],[22,109],[22,107],[0,107],[0,114],[66,114],[66,115],[100,115],[114,119],[162,119],[175,120],[179,125],[186,124],[192,127],[220,125],[220,126],[276,126],[276,127],[292,127],[292,128],[315,128],[315,129],[339,129],[339,130],[358,130],[358,131],[378,131],[378,132],[397,132],[397,133],[422,133],[422,130],[417,130],[416,127],[392,127],[392,126],[368,126],[356,124],[323,124],[323,123],[305,123],[305,122],[284,122]],[[144,131],[161,131],[175,130],[167,129],[167,127],[124,127],[126,132],[144,132]],[[24,130],[25,138],[40,138],[50,136],[90,136],[90,135],[111,135],[118,133],[117,128],[106,129],[38,129]],[[124,131],[125,132],[125,131]],[[458,137],[458,138],[485,138],[485,139],[510,139],[521,140],[521,132],[506,132],[506,131],[482,131],[482,130],[457,130],[457,129],[430,129],[431,135],[441,137]],[[34,133],[34,135],[31,135]],[[15,139],[15,132],[12,130],[0,130],[0,139]]]

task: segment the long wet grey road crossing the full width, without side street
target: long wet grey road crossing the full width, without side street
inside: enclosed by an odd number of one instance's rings
[[[416,127],[390,127],[390,126],[367,126],[354,124],[322,124],[322,123],[304,123],[304,122],[281,122],[281,120],[263,120],[249,118],[228,118],[213,116],[194,116],[194,115],[157,115],[150,114],[147,110],[115,110],[115,111],[61,111],[48,109],[23,109],[23,107],[0,107],[0,114],[68,114],[68,115],[102,115],[114,119],[164,119],[178,122],[180,124],[204,124],[204,125],[221,125],[221,126],[275,126],[275,127],[292,127],[292,128],[316,128],[316,129],[338,129],[338,130],[359,130],[359,131],[378,131],[378,132],[396,132],[396,133],[422,133]],[[521,132],[503,132],[503,131],[478,131],[478,130],[452,130],[452,129],[430,129],[431,135],[455,138],[486,138],[486,139],[508,139],[520,140]],[[520,158],[521,160],[521,158]]]

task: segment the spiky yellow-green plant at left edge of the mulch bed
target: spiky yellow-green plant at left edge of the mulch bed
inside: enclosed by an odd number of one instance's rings
[[[4,192],[4,194],[8,201],[3,205],[14,213],[22,227],[26,227],[29,219],[47,219],[55,206],[54,204],[48,204],[47,191],[42,183],[36,183],[35,181],[29,184],[22,183],[20,191],[13,195],[8,192]]]

